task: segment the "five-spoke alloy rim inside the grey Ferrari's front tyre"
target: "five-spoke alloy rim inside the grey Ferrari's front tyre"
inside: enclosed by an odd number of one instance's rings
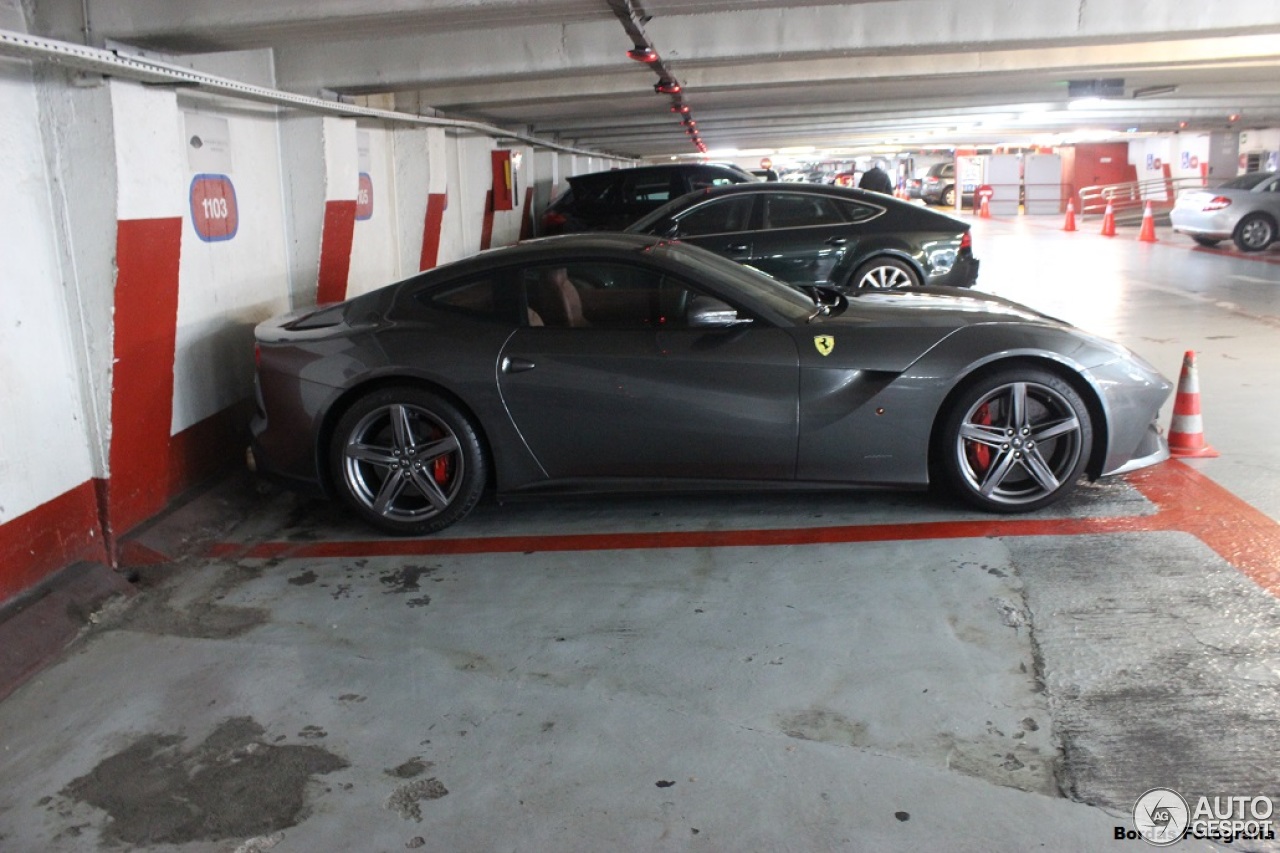
[[[1038,382],[1009,382],[965,411],[955,462],[977,497],[1006,507],[1041,501],[1079,473],[1084,441],[1075,407]]]

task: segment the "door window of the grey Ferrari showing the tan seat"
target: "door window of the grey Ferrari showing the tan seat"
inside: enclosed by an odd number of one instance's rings
[[[692,289],[660,270],[617,261],[527,266],[530,325],[550,329],[685,328]]]

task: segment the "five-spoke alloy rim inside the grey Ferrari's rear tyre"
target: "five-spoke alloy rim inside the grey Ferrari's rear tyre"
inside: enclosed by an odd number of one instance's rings
[[[457,434],[434,412],[389,403],[347,433],[342,476],[351,496],[390,521],[415,523],[447,510],[466,474]]]

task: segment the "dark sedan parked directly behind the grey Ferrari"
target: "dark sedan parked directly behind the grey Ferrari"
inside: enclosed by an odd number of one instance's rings
[[[867,190],[713,187],[659,207],[627,231],[678,238],[797,286],[972,287],[978,278],[968,223]]]

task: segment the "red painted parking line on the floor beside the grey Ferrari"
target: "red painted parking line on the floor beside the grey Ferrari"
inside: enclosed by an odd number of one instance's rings
[[[1181,532],[1199,538],[1242,574],[1280,598],[1280,524],[1181,462],[1170,461],[1144,469],[1130,474],[1128,480],[1156,506],[1155,514],[1092,519],[992,517],[970,521],[795,529],[221,543],[215,546],[209,556],[250,560],[319,560]]]

